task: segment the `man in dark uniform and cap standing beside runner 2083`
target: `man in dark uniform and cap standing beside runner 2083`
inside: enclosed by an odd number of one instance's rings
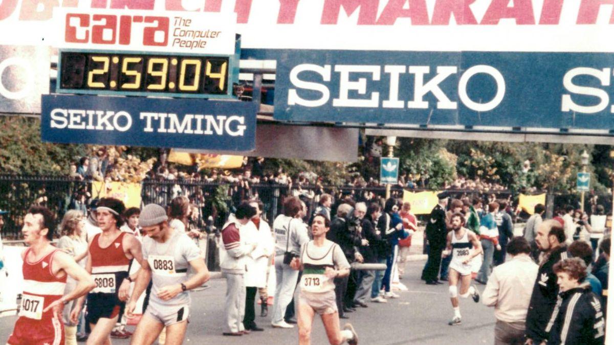
[[[437,195],[439,203],[430,212],[429,222],[426,225],[426,238],[429,241],[429,258],[424,267],[424,280],[426,284],[441,284],[437,280],[441,265],[441,252],[446,246],[446,206],[448,206],[448,193],[441,192]]]

